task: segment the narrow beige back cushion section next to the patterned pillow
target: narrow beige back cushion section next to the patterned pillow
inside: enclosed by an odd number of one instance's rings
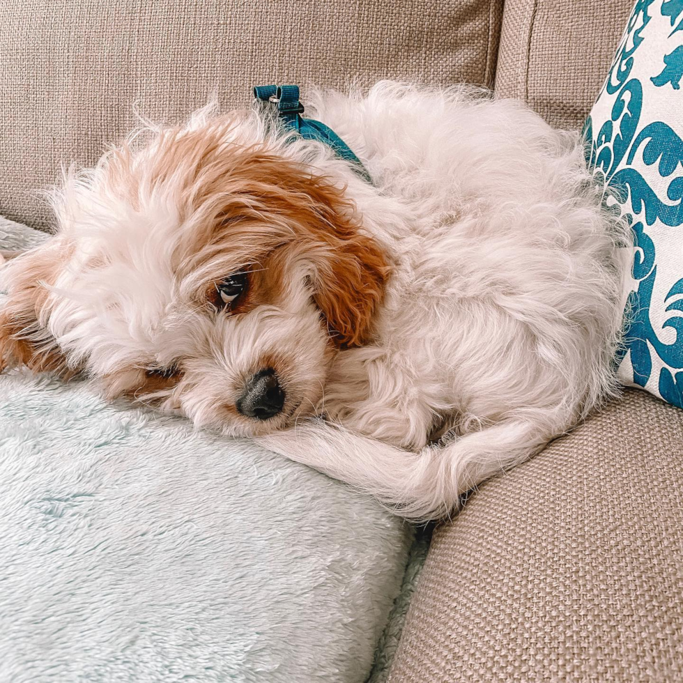
[[[558,128],[581,128],[634,0],[505,0],[496,94]]]

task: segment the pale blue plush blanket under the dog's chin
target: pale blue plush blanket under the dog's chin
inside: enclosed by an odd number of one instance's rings
[[[412,536],[247,441],[0,376],[1,682],[361,683]]]

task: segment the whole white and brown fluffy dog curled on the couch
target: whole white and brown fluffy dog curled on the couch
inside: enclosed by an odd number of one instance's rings
[[[372,178],[268,107],[146,123],[0,270],[0,366],[255,438],[410,519],[617,391],[627,228],[578,133],[466,86],[314,91]]]

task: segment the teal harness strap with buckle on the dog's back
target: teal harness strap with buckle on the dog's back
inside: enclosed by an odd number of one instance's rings
[[[254,97],[261,102],[277,105],[277,116],[287,128],[305,140],[323,142],[339,158],[350,161],[361,178],[372,183],[372,178],[360,159],[332,128],[312,118],[301,118],[304,108],[299,101],[299,86],[258,86],[254,88]]]

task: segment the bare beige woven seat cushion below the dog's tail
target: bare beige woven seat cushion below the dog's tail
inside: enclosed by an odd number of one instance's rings
[[[624,396],[435,532],[390,683],[683,681],[683,411]]]

